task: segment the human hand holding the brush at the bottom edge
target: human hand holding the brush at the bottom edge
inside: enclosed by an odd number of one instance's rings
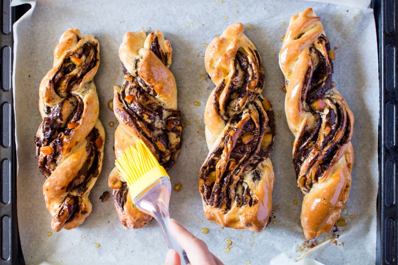
[[[187,253],[191,265],[223,265],[223,263],[208,250],[206,243],[191,234],[176,220],[170,220],[169,230],[171,235]],[[169,250],[166,255],[165,265],[181,265],[180,256],[175,250]]]

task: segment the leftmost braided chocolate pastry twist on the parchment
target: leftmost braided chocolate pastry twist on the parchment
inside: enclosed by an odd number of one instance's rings
[[[100,64],[94,35],[67,30],[54,50],[54,67],[40,83],[43,118],[36,137],[39,170],[47,177],[43,194],[56,232],[83,223],[88,198],[102,167],[105,133],[98,120],[93,77]]]

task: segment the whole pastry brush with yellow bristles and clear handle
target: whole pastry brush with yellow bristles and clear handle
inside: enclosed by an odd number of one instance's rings
[[[125,149],[115,165],[127,182],[135,206],[158,221],[167,245],[178,252],[181,264],[190,264],[187,254],[169,232],[171,183],[166,170],[141,139],[135,147]]]

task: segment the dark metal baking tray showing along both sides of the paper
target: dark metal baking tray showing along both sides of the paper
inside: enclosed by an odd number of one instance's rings
[[[0,264],[24,265],[16,210],[16,147],[12,95],[12,24],[30,5],[10,7],[11,0],[0,0]],[[379,195],[377,209],[376,264],[398,264],[397,248],[397,165],[396,84],[398,48],[398,0],[372,0],[379,52]]]

